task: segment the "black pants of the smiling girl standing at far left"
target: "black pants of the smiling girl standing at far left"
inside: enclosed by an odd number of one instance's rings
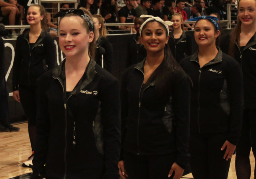
[[[19,85],[20,102],[28,119],[28,134],[31,143],[31,149],[34,151],[36,142],[36,86]]]

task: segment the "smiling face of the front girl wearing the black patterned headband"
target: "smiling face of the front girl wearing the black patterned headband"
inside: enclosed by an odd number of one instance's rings
[[[89,32],[80,16],[61,19],[59,24],[59,46],[67,58],[88,55],[88,47],[94,34]]]

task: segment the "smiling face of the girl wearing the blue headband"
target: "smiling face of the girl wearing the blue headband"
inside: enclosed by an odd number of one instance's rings
[[[202,45],[215,45],[219,34],[220,31],[215,30],[215,26],[209,20],[202,19],[195,24],[195,41],[199,47]]]

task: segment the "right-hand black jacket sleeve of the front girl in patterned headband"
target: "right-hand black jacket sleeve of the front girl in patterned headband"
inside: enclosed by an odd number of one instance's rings
[[[116,79],[102,90],[100,101],[104,136],[103,179],[119,179],[120,99],[119,85]]]

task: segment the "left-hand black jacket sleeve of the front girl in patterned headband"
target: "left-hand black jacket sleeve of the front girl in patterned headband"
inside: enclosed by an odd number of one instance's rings
[[[48,114],[48,102],[45,95],[46,80],[40,77],[37,82],[37,116],[36,116],[36,143],[33,159],[33,177],[45,178],[46,155],[48,151],[48,136],[50,132],[50,120]],[[40,177],[38,175],[40,174]]]

